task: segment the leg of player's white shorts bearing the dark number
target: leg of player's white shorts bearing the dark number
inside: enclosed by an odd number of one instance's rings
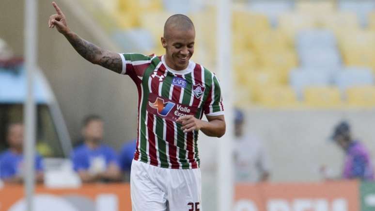
[[[170,211],[202,211],[201,170],[172,170],[167,195]]]

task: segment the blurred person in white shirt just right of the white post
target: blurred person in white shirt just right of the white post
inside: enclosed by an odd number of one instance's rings
[[[234,115],[235,181],[267,181],[270,166],[262,140],[248,130],[244,132],[245,118],[242,111],[236,109]]]

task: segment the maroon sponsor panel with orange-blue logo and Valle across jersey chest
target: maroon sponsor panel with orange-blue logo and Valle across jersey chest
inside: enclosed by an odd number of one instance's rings
[[[194,115],[197,110],[198,107],[173,102],[154,93],[150,93],[148,96],[147,112],[161,118],[176,121],[180,116]]]

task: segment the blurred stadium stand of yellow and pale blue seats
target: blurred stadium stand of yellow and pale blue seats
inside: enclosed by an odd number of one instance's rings
[[[173,13],[191,16],[199,48],[195,58],[215,69],[216,24],[207,27],[200,21],[216,23],[213,2],[111,0],[102,4],[101,9],[112,16],[106,27],[116,43],[156,54],[164,51],[159,45],[161,23]],[[365,97],[371,96],[374,83],[374,8],[375,2],[366,0],[235,1],[234,79],[238,93],[246,96],[236,98],[247,105],[271,107],[372,105]],[[91,10],[98,8],[91,6]],[[117,30],[110,28],[113,25]],[[125,42],[128,39],[135,42]],[[272,95],[281,97],[266,99]]]

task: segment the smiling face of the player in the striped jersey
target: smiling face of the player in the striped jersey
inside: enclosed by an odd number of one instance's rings
[[[175,70],[186,69],[194,53],[195,30],[171,29],[169,34],[168,37],[161,38],[161,43],[166,49],[167,65]]]

